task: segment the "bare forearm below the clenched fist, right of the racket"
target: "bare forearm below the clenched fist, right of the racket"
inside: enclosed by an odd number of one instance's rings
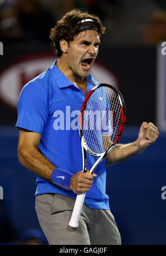
[[[117,144],[110,154],[106,156],[106,165],[121,163],[129,157],[141,153],[144,149],[138,147],[137,140],[128,144]]]

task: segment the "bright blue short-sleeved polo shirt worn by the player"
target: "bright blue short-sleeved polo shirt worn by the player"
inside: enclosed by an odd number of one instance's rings
[[[88,78],[98,84],[91,75]],[[87,93],[92,87],[87,81]],[[82,170],[78,121],[84,99],[84,93],[61,73],[56,61],[44,73],[25,84],[18,99],[16,127],[41,134],[39,151],[53,165],[71,174]],[[96,160],[96,157],[87,153],[87,169],[90,170]],[[85,204],[92,209],[109,209],[105,160],[98,165],[95,173],[98,176],[86,193]],[[37,177],[35,195],[43,193],[76,198],[72,190]]]

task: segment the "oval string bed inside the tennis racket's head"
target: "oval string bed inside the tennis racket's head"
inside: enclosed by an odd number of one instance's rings
[[[110,87],[99,87],[90,96],[83,119],[87,146],[95,153],[105,152],[117,137],[121,124],[121,104]]]

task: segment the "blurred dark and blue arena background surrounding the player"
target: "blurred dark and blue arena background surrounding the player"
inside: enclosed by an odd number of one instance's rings
[[[50,29],[71,8],[97,14],[106,27],[92,75],[125,98],[120,142],[137,139],[143,121],[160,132],[142,154],[107,169],[122,244],[166,244],[165,0],[0,0],[0,244],[48,244],[35,213],[35,175],[18,162],[17,101],[53,64]]]

